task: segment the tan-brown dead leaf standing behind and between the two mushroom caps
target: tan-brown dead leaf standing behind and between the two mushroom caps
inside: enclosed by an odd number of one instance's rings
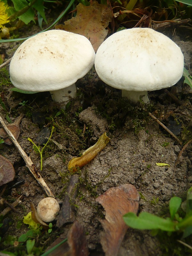
[[[90,6],[78,4],[76,17],[65,21],[65,25],[58,25],[55,28],[87,37],[96,52],[108,34],[105,28],[112,17],[113,14],[108,5],[93,1]]]

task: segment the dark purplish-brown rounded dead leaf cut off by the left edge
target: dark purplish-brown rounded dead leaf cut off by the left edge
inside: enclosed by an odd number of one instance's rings
[[[14,180],[15,169],[12,163],[0,155],[0,186]]]

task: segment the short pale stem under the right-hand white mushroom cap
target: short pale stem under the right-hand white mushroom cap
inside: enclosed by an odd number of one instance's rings
[[[138,101],[140,101],[140,97],[142,97],[142,100],[144,103],[149,103],[149,98],[147,95],[147,91],[143,91],[143,92],[135,92],[135,91],[126,91],[126,90],[122,90],[122,97],[126,97],[128,100],[132,101],[133,103],[137,103]]]

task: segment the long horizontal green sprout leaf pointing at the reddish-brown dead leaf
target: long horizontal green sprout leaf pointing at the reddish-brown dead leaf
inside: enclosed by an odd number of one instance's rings
[[[141,212],[138,217],[135,213],[128,212],[123,219],[131,228],[175,231],[175,224],[171,219],[163,219],[148,212]]]

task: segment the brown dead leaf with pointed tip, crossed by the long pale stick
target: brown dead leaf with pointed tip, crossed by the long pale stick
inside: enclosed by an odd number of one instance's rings
[[[24,115],[21,114],[13,124],[7,125],[7,127],[12,132],[12,134],[14,135],[16,140],[19,138],[19,134],[20,134],[19,124],[20,124],[20,121],[22,120],[23,116]],[[5,144],[12,145],[12,141],[8,138],[8,135],[3,128],[0,129],[0,137],[4,139]]]

